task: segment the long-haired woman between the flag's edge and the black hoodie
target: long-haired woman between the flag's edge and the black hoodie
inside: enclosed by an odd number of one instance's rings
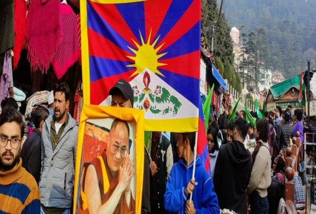
[[[207,142],[208,142],[208,153],[209,153],[209,165],[210,165],[210,177],[213,179],[214,170],[218,155],[219,144],[218,144],[218,133],[219,127],[216,123],[212,125],[207,130]]]

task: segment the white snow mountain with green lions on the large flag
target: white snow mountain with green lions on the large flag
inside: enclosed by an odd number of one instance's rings
[[[198,117],[198,108],[149,69],[130,82],[134,90],[134,108],[145,111],[145,119]],[[185,87],[185,86],[184,86]],[[101,105],[110,105],[110,96]]]

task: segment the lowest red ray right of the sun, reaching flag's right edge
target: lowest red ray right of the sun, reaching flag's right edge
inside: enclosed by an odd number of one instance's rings
[[[167,64],[160,66],[160,68],[177,74],[200,78],[200,72],[194,72],[194,69],[200,66],[199,59],[200,50],[197,50],[179,57],[160,60],[161,63]]]

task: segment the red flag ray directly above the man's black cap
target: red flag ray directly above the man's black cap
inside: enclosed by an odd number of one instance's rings
[[[90,102],[91,104],[99,105],[104,99],[109,96],[110,89],[115,85],[115,83],[123,78],[127,82],[133,80],[136,76],[129,78],[131,74],[133,74],[136,69],[130,70],[128,72],[113,75],[110,77],[101,78],[98,81],[90,83]]]

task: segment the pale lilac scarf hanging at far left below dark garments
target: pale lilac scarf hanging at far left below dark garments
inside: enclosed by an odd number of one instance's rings
[[[9,97],[9,87],[12,81],[12,56],[11,49],[5,53],[5,61],[3,65],[3,72],[0,77],[0,103],[6,97]]]

